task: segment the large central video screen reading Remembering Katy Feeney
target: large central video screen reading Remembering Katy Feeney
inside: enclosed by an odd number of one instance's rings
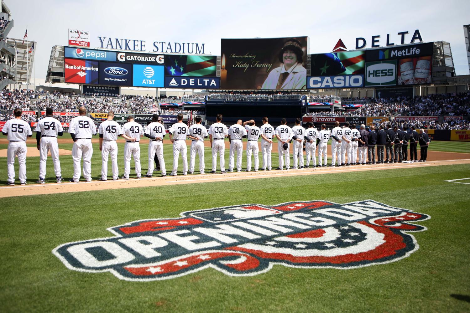
[[[306,89],[308,46],[308,37],[221,39],[220,88]]]

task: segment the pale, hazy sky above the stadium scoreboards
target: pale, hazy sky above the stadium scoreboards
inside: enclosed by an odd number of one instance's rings
[[[310,53],[330,52],[341,38],[348,49],[355,38],[416,29],[423,41],[450,42],[457,75],[469,74],[462,25],[470,24],[470,1],[122,1],[6,0],[15,26],[8,37],[37,41],[36,77],[44,78],[54,45],[67,44],[69,28],[98,36],[154,41],[204,43],[205,53],[219,55],[220,38],[310,37]]]

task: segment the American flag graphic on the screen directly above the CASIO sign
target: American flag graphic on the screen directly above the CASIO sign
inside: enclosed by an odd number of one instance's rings
[[[364,51],[312,54],[312,76],[364,74]]]

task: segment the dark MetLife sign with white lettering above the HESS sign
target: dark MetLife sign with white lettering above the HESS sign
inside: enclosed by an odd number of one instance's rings
[[[432,55],[434,43],[394,46],[387,49],[366,50],[366,61],[398,60]]]

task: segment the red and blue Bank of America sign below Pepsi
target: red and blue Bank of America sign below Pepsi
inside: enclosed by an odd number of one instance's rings
[[[98,84],[98,62],[65,59],[65,83]]]

